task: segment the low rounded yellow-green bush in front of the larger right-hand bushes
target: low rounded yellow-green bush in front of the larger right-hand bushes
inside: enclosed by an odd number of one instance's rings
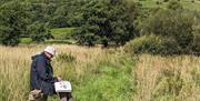
[[[143,36],[137,38],[124,46],[124,50],[131,54],[152,53],[171,55],[180,53],[180,47],[172,38],[160,36]]]

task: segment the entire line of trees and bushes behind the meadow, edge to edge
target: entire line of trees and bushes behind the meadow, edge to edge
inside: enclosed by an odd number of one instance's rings
[[[53,38],[52,28],[76,28],[78,44],[126,44],[133,53],[198,53],[198,11],[184,9],[179,0],[164,2],[167,8],[147,9],[133,0],[1,0],[0,42],[42,42]]]

